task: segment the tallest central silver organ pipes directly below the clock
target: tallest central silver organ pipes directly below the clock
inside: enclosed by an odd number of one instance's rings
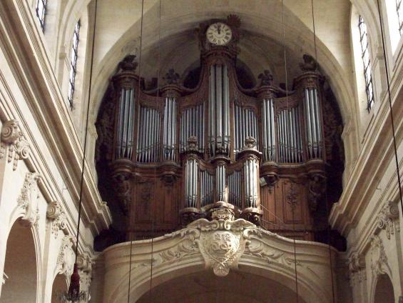
[[[216,149],[228,154],[230,143],[229,96],[228,66],[225,64],[210,66],[208,140],[211,156],[215,156]]]

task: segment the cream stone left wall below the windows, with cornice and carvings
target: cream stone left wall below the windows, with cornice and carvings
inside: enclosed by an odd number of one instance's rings
[[[82,150],[30,10],[26,1],[0,4],[0,300],[1,286],[18,279],[4,272],[6,243],[17,224],[34,237],[36,302],[51,302],[56,274],[69,280],[73,271]],[[85,290],[93,238],[111,224],[111,214],[91,174],[83,200],[78,267]],[[19,254],[12,258],[19,262]]]

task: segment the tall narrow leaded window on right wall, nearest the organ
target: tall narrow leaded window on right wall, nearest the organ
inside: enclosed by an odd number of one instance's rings
[[[362,16],[359,16],[358,28],[359,41],[361,43],[362,51],[362,63],[364,64],[365,91],[367,92],[367,109],[368,111],[370,111],[372,105],[374,104],[374,89],[372,86],[371,60],[369,59],[367,25],[365,24],[364,19],[362,19]]]

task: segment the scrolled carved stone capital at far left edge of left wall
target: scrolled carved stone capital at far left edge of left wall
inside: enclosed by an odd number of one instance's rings
[[[29,153],[29,143],[19,128],[19,122],[14,119],[4,122],[1,128],[0,159],[8,154],[7,162],[13,162],[13,170],[16,170],[18,161],[27,159]]]

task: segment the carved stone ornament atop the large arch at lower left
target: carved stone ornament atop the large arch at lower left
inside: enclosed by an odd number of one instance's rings
[[[17,199],[17,205],[23,211],[23,222],[29,227],[38,227],[39,222],[39,206],[38,206],[38,182],[39,174],[35,172],[27,172],[24,179],[24,184],[21,193]]]

